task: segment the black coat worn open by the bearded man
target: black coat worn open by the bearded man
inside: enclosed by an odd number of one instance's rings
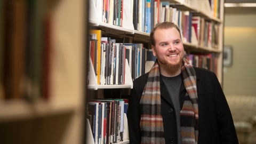
[[[238,143],[233,118],[217,76],[209,70],[195,68],[197,78],[199,134],[198,144]],[[140,98],[147,83],[148,73],[133,81],[129,99],[128,125],[130,143],[140,143]],[[177,123],[175,110],[169,93],[160,77],[161,108],[164,124],[165,143],[177,143]],[[180,106],[186,94],[182,82]],[[173,141],[173,142],[171,142]]]

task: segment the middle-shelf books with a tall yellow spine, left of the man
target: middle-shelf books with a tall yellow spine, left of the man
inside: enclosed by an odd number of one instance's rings
[[[110,37],[101,37],[101,30],[90,30],[90,34],[89,53],[99,85],[125,84],[125,60],[133,80],[145,74],[143,44],[117,43]]]

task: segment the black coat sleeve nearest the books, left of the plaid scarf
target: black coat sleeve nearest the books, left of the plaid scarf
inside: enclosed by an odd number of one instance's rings
[[[140,131],[140,98],[135,90],[135,85],[133,85],[131,90],[129,107],[127,114],[127,121],[129,127],[129,139],[130,143],[141,143],[141,131]]]

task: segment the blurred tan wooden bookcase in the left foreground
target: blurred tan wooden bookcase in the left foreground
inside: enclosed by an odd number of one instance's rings
[[[28,2],[31,3],[28,4]],[[24,38],[22,41],[26,41],[26,43],[19,43],[19,52],[22,53],[25,53],[24,47],[26,47],[27,43],[33,41],[32,39],[37,38],[36,42],[38,42],[41,41],[38,39],[43,39],[44,37],[41,35],[44,33],[38,33],[38,31],[41,30],[44,31],[43,27],[45,26],[43,23],[44,21],[41,19],[42,17],[37,17],[39,11],[42,13],[45,12],[45,15],[50,16],[51,29],[49,31],[49,39],[51,54],[47,57],[47,60],[50,62],[50,78],[47,83],[49,86],[49,94],[47,98],[45,98],[45,95],[42,93],[40,93],[39,97],[35,94],[31,94],[31,97],[29,98],[23,97],[22,94],[19,97],[15,97],[15,95],[10,97],[10,95],[7,95],[2,87],[0,87],[0,143],[83,143],[83,140],[85,139],[83,137],[83,112],[85,101],[84,95],[86,92],[84,89],[84,81],[86,79],[84,79],[84,73],[87,68],[84,66],[84,55],[86,55],[84,47],[87,43],[86,39],[84,40],[84,37],[87,35],[87,1],[18,0],[8,1],[9,6],[4,5],[4,3],[7,3],[7,1],[0,2],[1,30],[3,26],[6,26],[6,19],[2,18],[10,18],[13,16],[9,15],[11,11],[13,12],[13,10],[10,9],[10,3],[15,4],[15,6],[17,6],[16,8],[19,8],[20,10],[14,13],[18,14],[19,17],[17,18],[19,20],[22,20],[21,22],[16,21],[20,26],[18,30],[24,32],[19,33],[22,34],[19,36]],[[35,9],[32,10],[31,7]],[[43,11],[41,11],[42,9]],[[28,11],[27,15],[23,15],[25,14],[22,13],[23,11]],[[34,19],[35,17],[30,18],[31,20],[35,20],[35,23],[39,23],[39,25],[31,24],[29,25],[30,27],[28,27],[27,23],[29,22],[26,21],[26,17],[28,17],[30,13],[35,14],[36,19]],[[3,15],[4,17],[2,17]],[[15,17],[11,18],[13,18],[13,21],[16,20],[14,19]],[[32,28],[35,28],[35,30],[38,31],[33,37],[28,37],[28,32],[26,30],[31,30]],[[6,39],[4,39],[5,37],[2,34],[10,33],[10,31],[1,30],[1,42],[6,43]],[[15,43],[13,41],[10,42]],[[47,44],[49,43],[41,41],[41,46]],[[7,49],[5,46],[2,46],[3,45],[1,44],[1,52]],[[22,47],[24,49],[21,49]],[[34,45],[33,48],[40,50],[38,45]],[[42,54],[43,53],[39,51],[35,51],[34,56],[40,58],[43,57]],[[1,56],[6,55],[2,55],[1,53]],[[11,63],[8,64],[11,65]],[[0,68],[0,85],[5,87],[5,83],[2,83],[2,75],[5,74],[5,72],[2,71],[2,68],[4,69],[5,67],[2,66],[3,65],[1,65]],[[37,66],[39,67],[41,65]],[[44,71],[45,69],[41,70]],[[13,71],[10,72],[12,73]],[[17,83],[25,86],[20,79]],[[34,83],[31,86],[31,91],[38,90]],[[42,85],[39,85],[38,88],[42,89]]]

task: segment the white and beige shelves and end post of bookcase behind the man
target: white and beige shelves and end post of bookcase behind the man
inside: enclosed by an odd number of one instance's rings
[[[214,53],[214,57],[217,58],[217,70],[215,73],[217,74],[217,77],[219,79],[219,82],[222,83],[222,51],[223,51],[223,4],[224,0],[219,0],[219,17],[214,17],[212,14],[212,8],[209,3],[209,0],[166,0],[170,2],[170,6],[173,8],[176,8],[177,10],[181,11],[189,11],[192,13],[193,17],[198,16],[204,18],[205,21],[207,22],[213,22],[218,25],[218,45],[215,47],[212,46],[205,46],[202,44],[198,43],[198,39],[196,39],[196,33],[195,30],[191,30],[191,42],[183,42],[184,49],[187,53]],[[128,5],[123,5],[124,9],[124,23],[123,27],[119,26],[114,26],[109,23],[105,23],[100,21],[99,15],[97,13],[97,7],[95,7],[93,0],[90,0],[90,15],[89,15],[89,26],[90,29],[98,29],[105,31],[102,35],[108,35],[109,37],[118,37],[118,38],[123,38],[125,35],[125,43],[146,43],[144,45],[148,49],[150,49],[150,34],[145,33],[143,31],[135,30],[133,26],[133,19],[132,15],[128,12],[129,11],[129,6]],[[126,25],[127,24],[127,25]],[[89,62],[91,63],[91,62]],[[127,66],[127,61],[126,61],[126,66]],[[126,67],[130,69],[129,67]],[[90,64],[90,71],[89,71],[89,84],[87,85],[87,89],[89,90],[96,90],[90,97],[92,99],[102,97],[101,89],[132,89],[132,78],[131,74],[129,74],[130,70],[125,70],[125,84],[124,85],[98,85],[97,84],[97,79],[94,74],[95,71],[93,71],[93,66]],[[128,75],[126,75],[128,74]],[[127,81],[126,81],[127,79]],[[88,130],[88,129],[87,129]],[[89,131],[89,130],[88,130]],[[88,136],[87,132],[87,137],[90,137],[89,139],[92,138],[91,136]],[[127,138],[129,139],[129,138]],[[128,141],[129,142],[129,141]]]

